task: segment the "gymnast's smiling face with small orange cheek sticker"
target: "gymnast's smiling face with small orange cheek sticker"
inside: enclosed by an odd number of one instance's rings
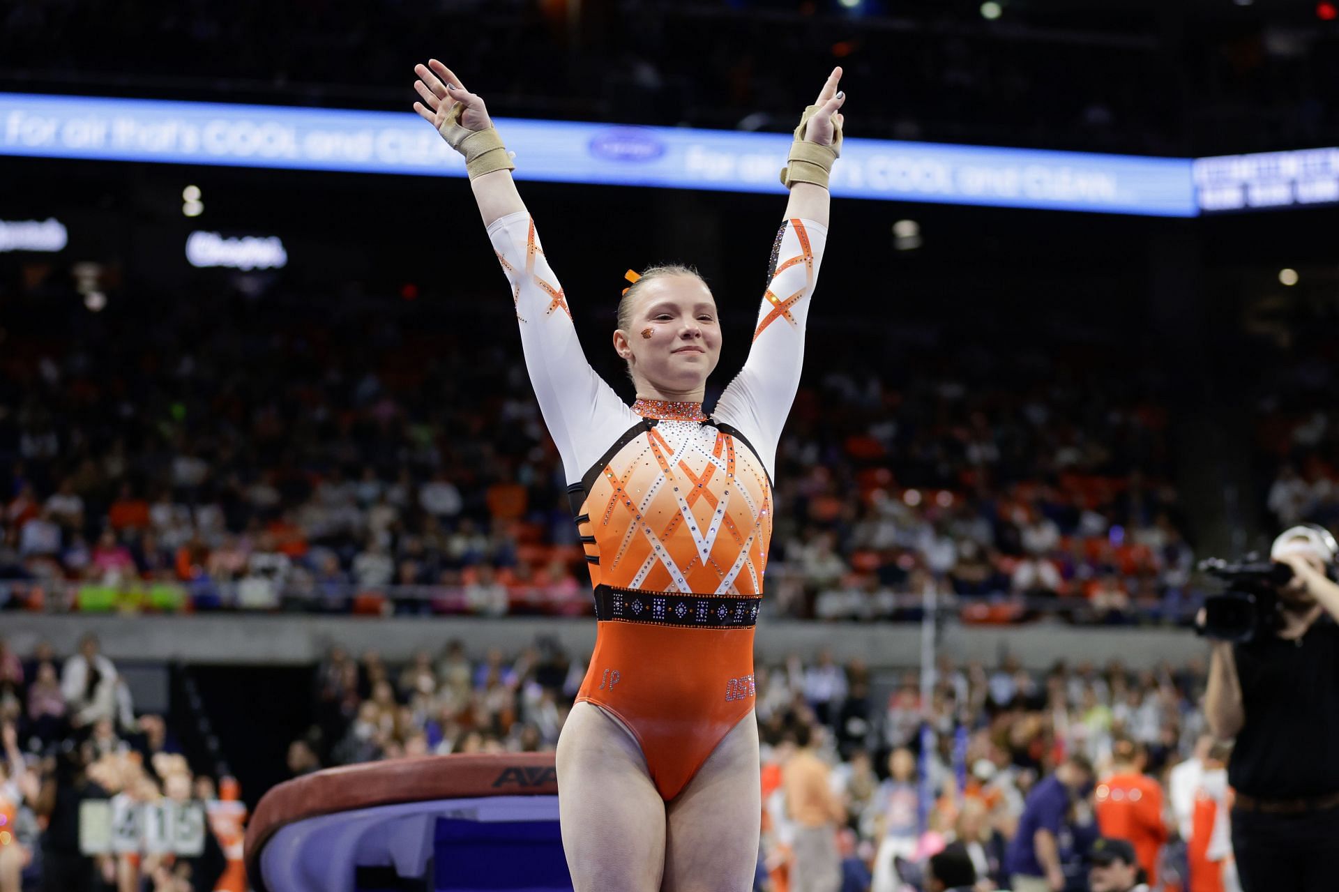
[[[720,359],[716,301],[696,276],[656,276],[636,292],[628,331],[613,348],[632,370],[639,396],[702,399]]]

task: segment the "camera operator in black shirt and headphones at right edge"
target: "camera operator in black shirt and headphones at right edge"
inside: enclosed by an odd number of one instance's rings
[[[1232,845],[1245,892],[1320,892],[1339,881],[1339,585],[1326,573],[1334,537],[1293,526],[1269,557],[1292,579],[1277,587],[1271,628],[1214,642],[1205,717],[1236,737]]]

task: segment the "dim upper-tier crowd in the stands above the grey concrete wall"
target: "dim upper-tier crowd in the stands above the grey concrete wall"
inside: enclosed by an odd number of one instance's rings
[[[0,607],[586,613],[524,370],[457,350],[461,329],[505,324],[495,304],[457,328],[422,305],[323,319],[237,297],[208,317],[106,316],[78,346],[13,331]],[[811,358],[782,439],[773,615],[915,619],[935,591],[994,621],[1024,601],[1184,617],[1165,384],[1129,371],[1126,343],[842,336],[860,364]]]

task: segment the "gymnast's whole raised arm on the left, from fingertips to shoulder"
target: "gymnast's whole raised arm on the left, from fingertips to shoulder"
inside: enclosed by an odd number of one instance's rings
[[[544,422],[562,457],[568,482],[581,475],[637,421],[586,362],[572,309],[511,179],[511,154],[483,99],[437,59],[414,67],[422,102],[414,110],[465,155],[470,188],[498,263],[511,284],[521,346]]]

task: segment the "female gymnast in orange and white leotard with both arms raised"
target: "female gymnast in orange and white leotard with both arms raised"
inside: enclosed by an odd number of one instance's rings
[[[613,332],[637,390],[627,406],[581,352],[483,99],[435,59],[414,71],[414,110],[465,155],[511,283],[525,363],[595,584],[596,650],[557,751],[573,884],[746,892],[762,814],[753,639],[771,473],[828,238],[841,68],[795,130],[782,170],[790,202],[753,347],[710,418],[702,399],[722,333],[706,283],[684,267],[629,273]]]

